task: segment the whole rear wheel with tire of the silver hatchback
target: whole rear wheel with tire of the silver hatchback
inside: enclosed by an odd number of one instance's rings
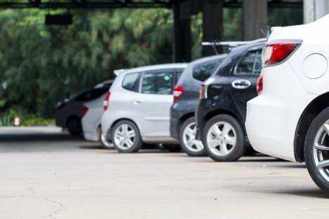
[[[121,120],[112,128],[111,139],[119,153],[136,153],[142,148],[142,138],[135,123]]]

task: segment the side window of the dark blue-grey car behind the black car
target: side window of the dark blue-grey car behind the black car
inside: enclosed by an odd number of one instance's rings
[[[219,63],[219,60],[215,59],[208,62],[203,62],[201,64],[196,64],[192,70],[193,78],[200,81],[208,79],[213,74],[213,71],[215,71]]]

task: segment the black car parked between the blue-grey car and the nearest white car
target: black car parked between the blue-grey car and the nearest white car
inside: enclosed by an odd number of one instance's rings
[[[215,161],[235,161],[246,152],[246,103],[257,96],[264,43],[231,49],[213,76],[200,87],[197,137]]]

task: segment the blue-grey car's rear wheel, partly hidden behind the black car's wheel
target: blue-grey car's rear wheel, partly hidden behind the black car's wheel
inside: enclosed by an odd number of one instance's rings
[[[180,146],[191,157],[206,155],[202,142],[196,140],[196,122],[194,117],[185,120],[180,127]]]

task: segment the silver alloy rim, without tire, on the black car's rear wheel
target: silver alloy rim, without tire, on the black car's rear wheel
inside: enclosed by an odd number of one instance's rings
[[[210,127],[206,141],[211,153],[226,156],[236,146],[236,131],[228,122],[216,122]]]

